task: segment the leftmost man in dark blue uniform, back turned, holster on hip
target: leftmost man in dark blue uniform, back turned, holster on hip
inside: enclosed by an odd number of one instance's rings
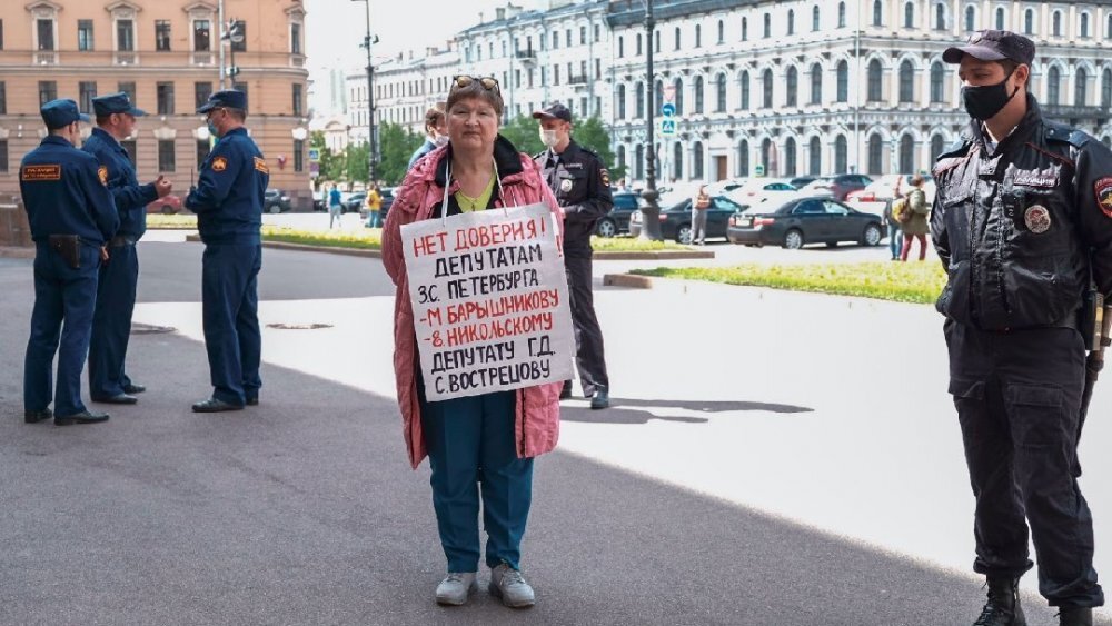
[[[81,403],[81,368],[89,350],[97,271],[105,242],[116,235],[120,220],[106,187],[108,171],[75,147],[81,137],[79,122],[89,117],[78,112],[73,100],[51,100],[40,112],[49,135],[19,166],[19,191],[36,248],[23,420],[33,424],[53,417],[58,426],[93,424],[108,416],[90,413]],[[56,351],[58,385],[52,389]]]

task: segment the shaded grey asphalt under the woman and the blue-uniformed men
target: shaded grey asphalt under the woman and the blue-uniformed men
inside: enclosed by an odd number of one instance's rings
[[[172,246],[145,245],[143,298],[199,295],[200,247]],[[385,288],[371,262],[311,257],[268,250],[264,297]],[[0,624],[922,626],[967,624],[982,602],[967,578],[556,451],[524,546],[538,605],[480,592],[440,608],[427,465],[409,469],[393,398],[266,366],[259,407],[195,415],[203,346],[145,334],[141,404],[24,425],[30,261],[0,259]]]

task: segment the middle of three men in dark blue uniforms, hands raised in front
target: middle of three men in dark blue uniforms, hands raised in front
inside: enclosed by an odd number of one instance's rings
[[[100,266],[97,284],[89,342],[89,396],[95,403],[130,405],[137,401],[132,394],[146,389],[132,382],[123,367],[139,280],[136,241],[147,231],[147,205],[169,193],[171,186],[161,176],[148,185],[139,185],[136,178],[135,166],[120,141],[135,132],[136,118],[147,113],[135,108],[127,93],[93,98],[92,110],[97,128],[81,150],[108,168],[108,189],[116,200],[120,228],[108,242],[108,261]]]

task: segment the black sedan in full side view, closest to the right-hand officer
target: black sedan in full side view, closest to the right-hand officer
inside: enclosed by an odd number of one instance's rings
[[[832,198],[796,198],[772,210],[762,207],[732,216],[726,238],[734,244],[797,250],[807,244],[833,247],[838,241],[876,246],[881,232],[880,216],[851,209]]]

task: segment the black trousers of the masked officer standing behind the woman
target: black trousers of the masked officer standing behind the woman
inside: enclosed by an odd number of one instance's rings
[[[579,369],[579,384],[585,396],[593,396],[599,385],[609,387],[610,379],[606,375],[603,329],[595,317],[590,256],[565,255],[564,268],[567,270],[572,325],[575,327],[575,362]]]

